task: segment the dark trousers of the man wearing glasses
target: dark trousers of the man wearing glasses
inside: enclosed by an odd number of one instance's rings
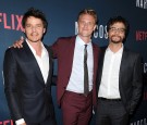
[[[96,125],[128,125],[128,113],[122,101],[98,99]]]

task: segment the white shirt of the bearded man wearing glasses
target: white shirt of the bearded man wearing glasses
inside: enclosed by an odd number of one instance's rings
[[[113,53],[110,50],[110,48],[107,48],[103,60],[103,70],[98,97],[107,99],[121,98],[119,90],[119,74],[122,53],[123,53],[123,46],[115,53]]]

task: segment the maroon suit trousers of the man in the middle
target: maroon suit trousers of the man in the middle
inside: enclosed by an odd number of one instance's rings
[[[91,92],[85,97],[82,93],[65,91],[61,109],[63,125],[88,125],[93,111]]]

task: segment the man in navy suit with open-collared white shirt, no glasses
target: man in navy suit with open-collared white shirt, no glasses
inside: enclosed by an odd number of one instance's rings
[[[26,40],[9,48],[3,62],[4,91],[16,125],[56,125],[51,98],[52,54],[41,39],[47,29],[42,12],[29,9],[23,16]]]

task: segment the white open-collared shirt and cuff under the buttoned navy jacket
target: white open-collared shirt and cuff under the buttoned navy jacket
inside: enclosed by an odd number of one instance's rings
[[[44,45],[41,43],[41,47],[42,47],[41,57],[38,57],[38,55],[36,54],[35,49],[30,46],[30,43],[27,41],[27,39],[26,39],[26,42],[27,42],[29,49],[32,50],[32,52],[33,52],[33,54],[34,54],[34,57],[35,57],[35,59],[36,59],[38,65],[39,65],[39,68],[40,68],[40,71],[41,71],[41,75],[42,75],[44,80],[45,80],[45,83],[46,83],[46,82],[47,82],[47,78],[48,78],[48,75],[49,75],[49,74],[48,74],[48,73],[49,73],[49,54],[48,54],[48,51],[47,51],[47,49],[44,47]],[[30,68],[32,68],[32,67],[30,67]],[[23,124],[23,123],[25,123],[25,120],[24,120],[24,118],[20,118],[20,120],[17,120],[17,121],[15,121],[15,124],[16,124],[16,125],[21,125],[21,124]]]

